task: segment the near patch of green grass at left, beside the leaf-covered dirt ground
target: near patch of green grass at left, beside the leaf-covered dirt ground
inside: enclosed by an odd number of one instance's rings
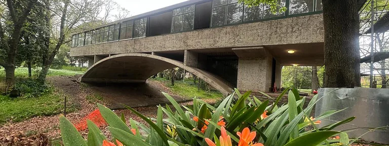
[[[7,121],[20,122],[36,116],[50,116],[63,112],[64,96],[49,92],[40,97],[10,98],[0,95],[0,124]],[[72,104],[67,105],[66,112],[75,111]]]

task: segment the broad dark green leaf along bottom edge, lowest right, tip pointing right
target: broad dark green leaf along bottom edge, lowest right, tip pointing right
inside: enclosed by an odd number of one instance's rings
[[[286,143],[284,146],[301,146],[301,145],[316,146],[319,143],[321,143],[322,141],[331,137],[332,135],[335,135],[338,133],[340,133],[340,132],[337,132],[337,131],[312,132],[312,133],[297,137],[296,139],[293,139],[292,141]]]

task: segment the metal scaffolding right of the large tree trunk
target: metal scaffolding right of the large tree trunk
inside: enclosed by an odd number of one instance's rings
[[[389,85],[388,3],[389,0],[370,0],[360,11],[362,87],[386,88]]]

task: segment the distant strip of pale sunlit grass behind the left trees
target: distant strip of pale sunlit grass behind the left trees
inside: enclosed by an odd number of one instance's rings
[[[32,76],[37,77],[40,73],[41,68],[32,68]],[[71,71],[71,70],[62,70],[62,69],[49,69],[47,74],[50,76],[74,76],[74,75],[82,75],[84,71]],[[6,71],[4,68],[0,69],[0,78],[6,77]],[[18,67],[15,69],[15,77],[18,78],[27,78],[28,77],[28,68],[27,67]]]

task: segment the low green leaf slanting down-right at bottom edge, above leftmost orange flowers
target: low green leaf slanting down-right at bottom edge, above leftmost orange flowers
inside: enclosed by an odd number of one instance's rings
[[[150,146],[150,144],[143,141],[142,139],[121,129],[108,127],[108,130],[112,133],[113,137],[118,139],[126,146]]]

